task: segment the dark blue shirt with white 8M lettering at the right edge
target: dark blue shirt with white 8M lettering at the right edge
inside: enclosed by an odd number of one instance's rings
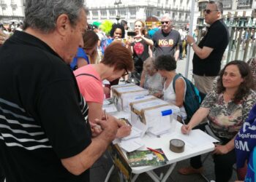
[[[247,160],[248,167],[244,181],[256,180],[256,105],[249,113],[248,119],[238,132],[235,139],[236,165],[244,167]]]

